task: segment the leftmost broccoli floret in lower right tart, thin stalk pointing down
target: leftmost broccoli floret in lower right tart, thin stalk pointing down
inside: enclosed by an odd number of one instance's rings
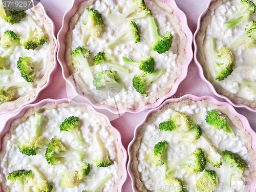
[[[168,146],[168,143],[166,141],[158,142],[154,150],[151,153],[151,160],[156,166],[161,166],[164,164],[165,171],[163,179],[166,179],[165,172],[167,171],[167,155],[166,155],[166,147]]]

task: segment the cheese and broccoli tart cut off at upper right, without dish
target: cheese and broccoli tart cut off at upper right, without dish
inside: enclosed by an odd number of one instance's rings
[[[256,1],[216,1],[201,20],[197,59],[216,91],[256,107]]]

